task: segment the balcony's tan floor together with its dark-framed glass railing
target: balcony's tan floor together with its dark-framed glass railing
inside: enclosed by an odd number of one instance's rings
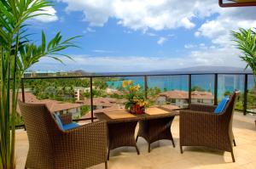
[[[204,79],[201,81],[201,79]],[[51,91],[50,88],[32,87],[35,84],[55,85],[58,81],[73,81],[78,79],[84,82],[84,88],[80,100],[73,100],[67,93],[62,96],[65,100],[56,101],[60,98],[40,98],[41,93]],[[225,74],[225,73],[200,73],[200,74],[169,74],[169,75],[128,75],[128,76],[69,76],[69,77],[26,77],[22,79],[20,99],[28,103],[49,104],[52,112],[60,114],[73,113],[73,121],[80,124],[98,121],[94,116],[104,110],[123,109],[125,100],[122,98],[122,89],[119,87],[122,81],[132,80],[143,87],[145,97],[152,99],[153,105],[161,105],[172,110],[187,109],[189,104],[218,104],[225,94],[240,90],[241,96],[236,104],[236,113],[233,121],[233,131],[237,146],[234,147],[236,163],[232,162],[230,153],[224,153],[205,147],[184,147],[184,153],[179,150],[179,117],[175,117],[172,123],[172,135],[176,148],[170,141],[157,141],[151,145],[152,151],[148,153],[147,143],[139,138],[137,147],[140,155],[133,148],[119,148],[111,151],[108,168],[254,168],[256,166],[256,126],[255,102],[252,103],[253,75],[252,74]],[[38,83],[35,83],[39,81]],[[164,82],[164,83],[163,83]],[[103,85],[102,85],[103,84]],[[71,84],[72,85],[72,84]],[[79,86],[77,86],[79,87]],[[160,91],[154,93],[155,87]],[[58,87],[55,87],[58,88]],[[62,88],[63,89],[63,88]],[[80,90],[81,87],[79,87]],[[103,91],[98,93],[98,91]],[[155,90],[158,90],[155,89]],[[65,91],[63,89],[63,91]],[[109,93],[108,93],[108,92]],[[56,92],[57,93],[57,92]],[[34,95],[33,95],[34,94]],[[57,94],[56,94],[57,95]],[[51,97],[51,96],[50,96]],[[75,95],[74,95],[75,97]],[[77,98],[77,97],[75,97]],[[52,105],[55,104],[55,105]],[[65,104],[65,106],[63,105]],[[66,104],[68,105],[66,107]],[[82,114],[86,107],[86,112]],[[60,109],[58,109],[60,107]],[[78,115],[79,112],[79,115]],[[18,128],[23,127],[22,125]],[[136,128],[136,135],[138,125]],[[26,131],[16,130],[17,136],[17,168],[24,168],[28,151]],[[104,164],[91,168],[104,168]]]

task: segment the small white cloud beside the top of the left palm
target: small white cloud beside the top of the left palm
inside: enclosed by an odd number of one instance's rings
[[[58,20],[58,16],[56,15],[56,10],[53,7],[45,7],[42,8],[43,11],[35,12],[33,14],[44,14],[44,15],[38,15],[34,17],[32,20],[38,20],[40,22],[54,22]],[[46,15],[47,14],[47,15]]]

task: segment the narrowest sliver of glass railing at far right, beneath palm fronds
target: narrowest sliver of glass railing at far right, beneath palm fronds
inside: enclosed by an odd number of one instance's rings
[[[256,84],[253,75],[248,76],[247,111],[256,113]]]

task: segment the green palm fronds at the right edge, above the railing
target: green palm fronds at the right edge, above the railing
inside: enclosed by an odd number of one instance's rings
[[[247,63],[246,69],[250,67],[253,70],[256,86],[256,32],[252,29],[245,30],[240,28],[239,31],[231,31],[231,33],[235,38],[236,47],[243,53],[240,58]]]

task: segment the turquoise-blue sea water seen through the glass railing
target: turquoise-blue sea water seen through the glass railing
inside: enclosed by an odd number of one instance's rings
[[[124,80],[132,80],[135,84],[144,87],[144,78],[125,77]],[[123,81],[108,82],[108,87],[117,88]],[[189,91],[189,76],[148,76],[148,87],[159,87],[162,92],[171,90]],[[192,87],[198,86],[205,91],[214,93],[213,75],[192,75]],[[253,76],[248,76],[248,89],[253,88]],[[218,98],[224,96],[225,92],[232,93],[234,90],[244,90],[244,76],[242,75],[218,75]]]

